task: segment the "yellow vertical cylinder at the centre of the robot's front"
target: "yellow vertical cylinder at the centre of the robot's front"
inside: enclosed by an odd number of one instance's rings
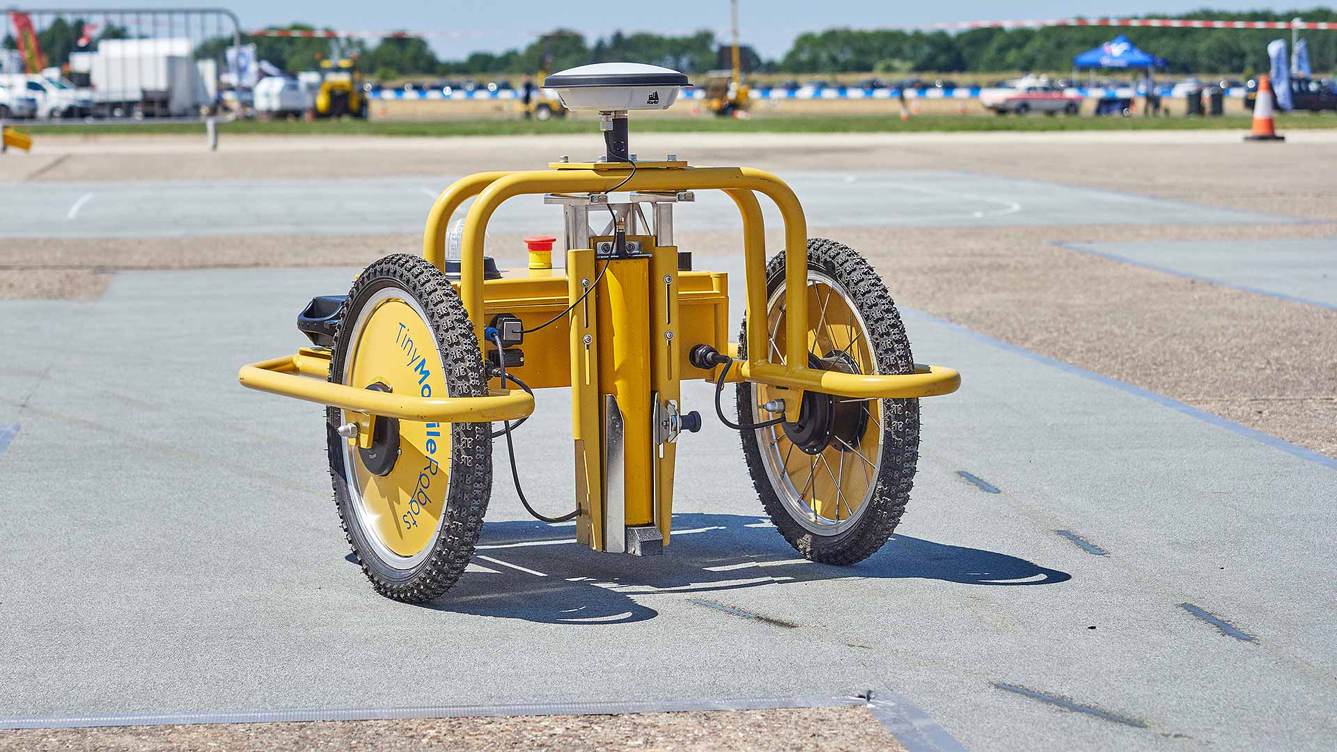
[[[600,265],[604,262],[600,262]],[[650,264],[612,260],[595,288],[599,316],[599,393],[618,399],[623,430],[623,488],[627,526],[654,519],[654,415],[650,401]]]

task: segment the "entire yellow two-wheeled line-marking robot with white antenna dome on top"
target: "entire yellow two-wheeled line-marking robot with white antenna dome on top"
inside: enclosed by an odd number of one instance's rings
[[[681,72],[632,63],[548,76],[568,108],[599,112],[602,158],[456,181],[432,206],[421,257],[385,257],[348,296],[312,300],[298,328],[313,347],[241,369],[246,387],[326,405],[334,499],[380,593],[427,601],[459,579],[483,527],[493,439],[507,442],[531,514],[575,519],[598,551],[662,553],[677,442],[701,428],[681,403],[686,379],[715,384],[713,411],[741,432],[762,504],[804,557],[849,565],[894,530],[919,399],[956,391],[960,376],[913,361],[881,278],[854,250],[808,238],[779,178],[628,153],[627,112],[666,108],[683,86]],[[726,276],[694,270],[674,242],[674,209],[702,190],[723,191],[742,217],[738,343]],[[769,261],[757,194],[785,223]],[[564,273],[555,238],[528,240],[528,269],[503,273],[484,257],[488,219],[515,197],[562,207]],[[726,383],[737,423],[721,405]],[[529,506],[511,444],[536,391],[555,387],[571,389],[575,440],[576,508],[560,518]]]

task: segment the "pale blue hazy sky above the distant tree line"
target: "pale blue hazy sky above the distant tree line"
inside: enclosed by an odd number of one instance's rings
[[[47,5],[47,4],[40,4]],[[432,45],[443,58],[463,58],[475,50],[501,51],[521,47],[537,32],[556,27],[574,28],[587,37],[603,36],[614,29],[686,33],[701,28],[729,35],[729,0],[632,0],[598,3],[594,0],[447,0],[412,3],[380,0],[349,3],[330,0],[80,0],[82,8],[231,8],[247,28],[267,24],[305,21],[338,29],[408,29],[453,31],[465,36],[433,39]],[[960,0],[940,3],[888,3],[878,0],[739,0],[743,43],[751,44],[766,58],[782,55],[794,36],[805,31],[830,27],[878,28],[927,24],[935,21],[1051,19],[1083,16],[1118,16],[1144,13],[1181,13],[1202,7],[1219,9],[1277,8],[1293,4],[1258,0],[1090,0],[1062,3],[1052,0]],[[1115,33],[1111,31],[1111,35]]]

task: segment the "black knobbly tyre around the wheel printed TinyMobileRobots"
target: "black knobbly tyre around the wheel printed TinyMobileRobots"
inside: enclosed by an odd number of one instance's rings
[[[334,333],[333,357],[330,359],[330,381],[341,383],[344,357],[348,343],[342,324],[348,321],[348,306],[376,280],[390,277],[417,298],[428,316],[427,324],[436,335],[436,345],[444,361],[447,392],[451,396],[484,396],[487,377],[483,368],[483,355],[473,336],[473,326],[464,304],[451,286],[451,282],[432,264],[420,256],[397,253],[386,256],[362,272],[353,284],[340,316],[340,326]],[[488,423],[451,424],[451,479],[444,500],[441,533],[431,555],[422,561],[406,578],[392,579],[377,571],[364,559],[354,542],[349,516],[350,498],[342,474],[334,464],[336,452],[342,458],[342,442],[333,427],[340,421],[338,408],[326,408],[326,421],[330,426],[329,454],[330,480],[334,486],[334,506],[344,526],[344,537],[357,557],[362,573],[372,581],[378,593],[396,601],[420,603],[440,597],[449,590],[464,567],[473,557],[473,547],[483,531],[483,516],[492,495],[492,439]],[[342,464],[342,460],[340,460]]]

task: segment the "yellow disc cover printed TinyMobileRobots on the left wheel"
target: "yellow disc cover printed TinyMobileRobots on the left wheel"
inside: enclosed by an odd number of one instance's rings
[[[377,381],[396,395],[447,396],[436,337],[418,312],[402,300],[385,300],[366,317],[345,369],[348,384]],[[350,372],[350,375],[349,375]],[[345,421],[353,417],[348,411]],[[378,419],[385,420],[385,419]],[[401,557],[421,553],[436,535],[445,507],[451,468],[451,424],[400,421],[400,456],[388,475],[362,463],[357,439],[348,439],[354,478],[369,533]]]

